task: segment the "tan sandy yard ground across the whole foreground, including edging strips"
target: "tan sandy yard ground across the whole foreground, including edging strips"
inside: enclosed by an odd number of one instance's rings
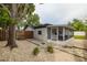
[[[35,42],[36,44],[34,44]],[[74,61],[87,61],[87,41],[70,39],[64,43],[69,43],[66,46],[53,44],[54,53],[46,52],[46,44],[40,44],[36,40],[23,40],[17,41],[19,47],[10,51],[9,47],[4,47],[7,42],[0,42],[0,61],[20,61],[20,62],[74,62]],[[32,51],[39,46],[40,54],[34,56]],[[84,58],[85,57],[85,58]]]

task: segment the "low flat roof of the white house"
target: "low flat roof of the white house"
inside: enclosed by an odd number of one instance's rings
[[[63,28],[68,28],[68,29],[73,29],[73,26],[69,26],[67,24],[57,24],[57,25],[53,25],[53,24],[40,24],[37,26],[34,26],[34,29],[41,29],[41,28],[53,28],[53,26],[63,26]]]

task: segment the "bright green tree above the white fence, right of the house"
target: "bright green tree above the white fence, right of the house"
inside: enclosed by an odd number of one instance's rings
[[[74,19],[70,24],[75,29],[75,31],[84,31],[85,25],[81,20]]]

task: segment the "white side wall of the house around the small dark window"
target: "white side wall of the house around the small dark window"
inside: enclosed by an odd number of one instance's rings
[[[39,34],[39,31],[42,31],[42,34]],[[37,39],[41,41],[47,41],[47,29],[46,28],[35,29],[34,39]]]

